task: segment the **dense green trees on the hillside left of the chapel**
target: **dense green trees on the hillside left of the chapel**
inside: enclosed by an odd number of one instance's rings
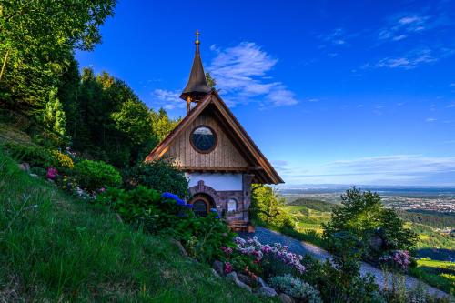
[[[0,107],[33,117],[84,157],[136,164],[176,125],[121,79],[79,71],[74,52],[101,42],[115,0],[0,4]]]

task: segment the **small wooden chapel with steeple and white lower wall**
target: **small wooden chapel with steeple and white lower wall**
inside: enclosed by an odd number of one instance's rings
[[[281,177],[248,136],[217,92],[207,85],[196,53],[181,98],[187,116],[147,156],[146,162],[171,158],[185,171],[197,215],[215,208],[235,230],[249,226],[251,184],[279,184]]]

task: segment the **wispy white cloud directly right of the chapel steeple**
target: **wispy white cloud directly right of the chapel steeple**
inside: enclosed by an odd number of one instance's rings
[[[269,81],[268,72],[278,59],[268,55],[259,45],[242,42],[226,49],[216,45],[217,52],[207,70],[217,79],[220,94],[231,106],[259,101],[272,106],[291,106],[298,103],[295,94],[279,81]]]

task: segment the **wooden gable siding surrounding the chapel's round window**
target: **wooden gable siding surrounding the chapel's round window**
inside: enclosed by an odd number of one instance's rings
[[[217,134],[217,146],[207,154],[197,152],[189,142],[193,130],[201,125],[210,126]],[[248,162],[240,155],[216,119],[207,113],[197,116],[191,125],[173,141],[166,156],[174,158],[177,165],[181,167],[248,167]]]

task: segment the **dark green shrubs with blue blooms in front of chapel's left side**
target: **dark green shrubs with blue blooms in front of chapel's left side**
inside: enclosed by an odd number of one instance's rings
[[[219,247],[233,245],[234,234],[217,214],[196,217],[192,206],[176,195],[159,194],[144,186],[132,190],[109,187],[96,197],[96,203],[111,207],[127,222],[152,234],[181,240],[201,261],[211,262],[221,255]]]

